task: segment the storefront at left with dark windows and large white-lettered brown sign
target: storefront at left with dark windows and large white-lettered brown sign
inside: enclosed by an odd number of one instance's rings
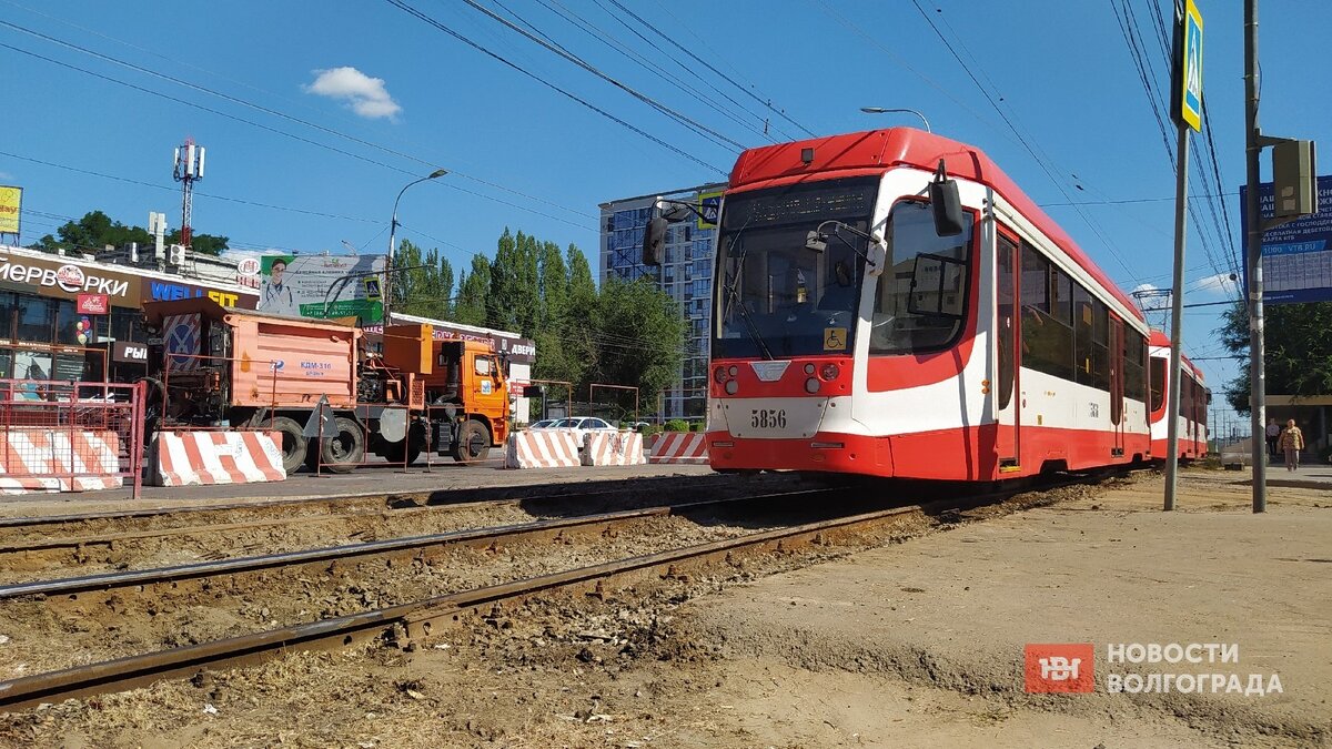
[[[253,309],[236,285],[0,245],[0,378],[135,381],[144,301],[208,296]]]

